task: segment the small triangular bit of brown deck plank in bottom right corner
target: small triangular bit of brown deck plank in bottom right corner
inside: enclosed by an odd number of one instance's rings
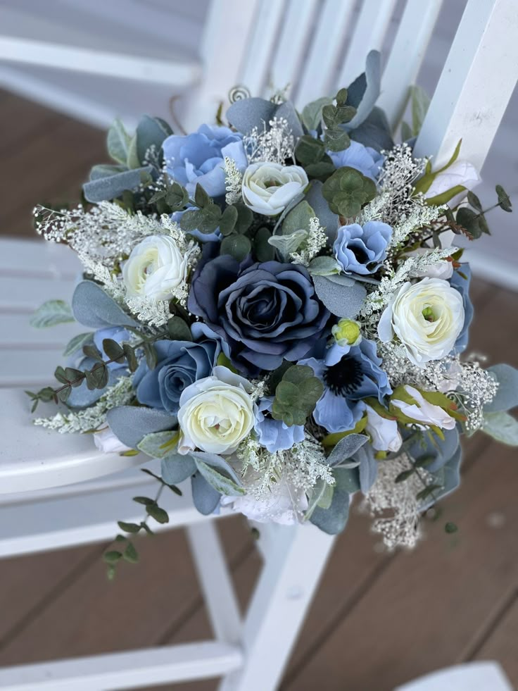
[[[518,687],[518,592],[508,609],[475,654],[477,660],[498,660],[514,687]]]

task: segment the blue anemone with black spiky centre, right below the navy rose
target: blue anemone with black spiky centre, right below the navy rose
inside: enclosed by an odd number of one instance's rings
[[[309,365],[325,386],[313,413],[317,424],[329,432],[352,430],[365,409],[363,399],[373,397],[381,402],[391,394],[381,362],[376,344],[366,338],[357,346],[334,344],[322,360],[300,361],[300,365]]]

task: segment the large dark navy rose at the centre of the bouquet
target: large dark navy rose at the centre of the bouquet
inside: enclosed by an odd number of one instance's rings
[[[229,344],[236,367],[249,375],[307,356],[327,335],[329,320],[303,266],[240,265],[229,255],[198,268],[189,309]]]

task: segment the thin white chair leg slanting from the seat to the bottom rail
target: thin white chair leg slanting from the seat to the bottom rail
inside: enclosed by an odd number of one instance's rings
[[[214,523],[198,521],[187,526],[187,537],[214,635],[220,641],[239,643],[239,605],[217,529]]]

